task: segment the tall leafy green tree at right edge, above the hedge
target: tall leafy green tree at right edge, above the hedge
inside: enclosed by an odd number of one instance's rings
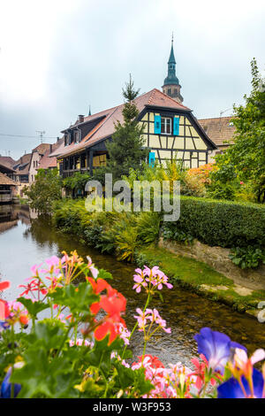
[[[234,105],[236,127],[234,144],[216,157],[219,168],[213,178],[223,181],[248,181],[256,200],[265,201],[265,81],[262,80],[255,58],[251,62],[252,91],[244,96],[246,105]],[[229,177],[227,177],[229,176]]]

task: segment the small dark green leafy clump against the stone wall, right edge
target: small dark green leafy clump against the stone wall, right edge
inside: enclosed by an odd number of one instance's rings
[[[260,266],[261,263],[265,264],[265,251],[250,245],[232,249],[229,257],[241,269],[255,268]]]

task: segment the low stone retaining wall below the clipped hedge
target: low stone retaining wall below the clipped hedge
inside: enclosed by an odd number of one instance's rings
[[[177,243],[169,240],[159,241],[159,246],[181,256],[195,258],[207,263],[217,272],[231,278],[239,284],[252,287],[253,289],[265,289],[265,266],[257,269],[242,270],[235,266],[229,258],[229,249],[222,247],[210,247],[195,240],[192,244]],[[248,284],[247,284],[248,283]]]

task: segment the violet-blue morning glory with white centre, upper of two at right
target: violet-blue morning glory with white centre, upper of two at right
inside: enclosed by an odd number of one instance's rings
[[[194,339],[198,343],[199,354],[207,358],[208,366],[221,374],[228,360],[232,358],[232,349],[240,348],[246,351],[239,343],[233,343],[228,335],[212,331],[209,327],[203,327]]]

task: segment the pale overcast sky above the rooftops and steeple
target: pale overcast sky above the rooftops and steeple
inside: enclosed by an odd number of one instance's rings
[[[0,0],[0,153],[40,143],[3,134],[57,137],[89,104],[122,103],[129,73],[141,93],[161,89],[172,31],[184,104],[230,115],[251,59],[264,70],[264,20],[264,0]]]

